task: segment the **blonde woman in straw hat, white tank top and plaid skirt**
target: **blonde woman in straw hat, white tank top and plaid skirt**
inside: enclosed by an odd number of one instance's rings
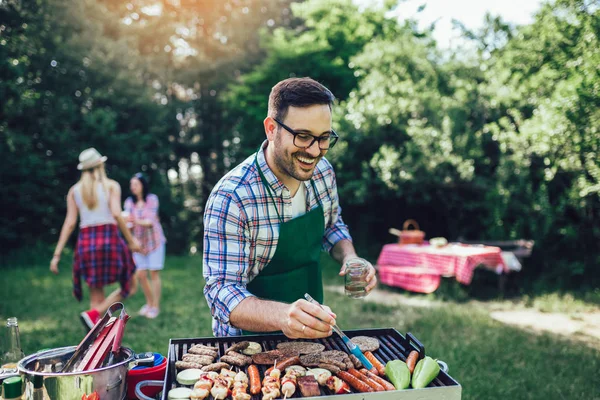
[[[90,309],[80,314],[89,329],[108,307],[135,292],[135,264],[131,251],[139,251],[138,241],[127,229],[121,216],[121,187],[108,179],[104,170],[106,157],[89,148],[79,155],[79,182],[67,194],[67,215],[60,231],[50,271],[58,273],[62,250],[77,224],[79,236],[73,260],[73,294],[81,301],[81,280],[90,288]],[[129,244],[119,236],[117,225]],[[104,286],[119,282],[121,288],[104,296]]]

